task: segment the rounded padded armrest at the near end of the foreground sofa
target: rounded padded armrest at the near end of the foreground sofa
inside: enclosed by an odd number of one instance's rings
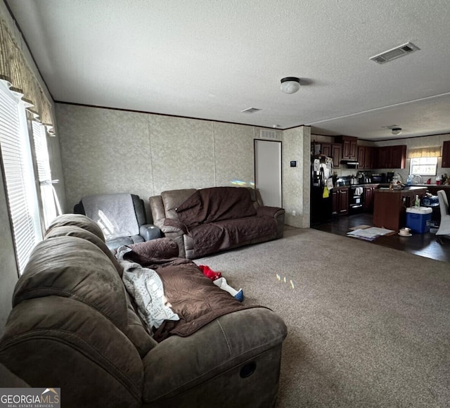
[[[238,381],[242,382],[240,368],[268,350],[281,346],[286,334],[287,328],[281,317],[265,307],[253,307],[214,319],[191,336],[171,336],[143,358],[143,402],[171,401],[176,395],[230,371],[235,372]],[[250,383],[259,382],[262,373],[266,377],[266,370],[278,373],[279,364],[276,359],[257,364],[252,374],[255,379],[251,381],[249,378],[247,383],[249,380]],[[228,381],[233,381],[233,378],[228,378]],[[236,390],[238,388],[236,384]],[[247,388],[245,392],[248,392]],[[216,405],[210,401],[210,406]]]

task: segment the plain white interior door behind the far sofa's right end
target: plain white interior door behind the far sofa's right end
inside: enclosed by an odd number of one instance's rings
[[[255,185],[264,205],[283,207],[281,141],[255,139]]]

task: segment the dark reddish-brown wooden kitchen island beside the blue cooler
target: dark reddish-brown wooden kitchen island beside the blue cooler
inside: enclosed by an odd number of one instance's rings
[[[405,187],[403,190],[377,189],[373,197],[373,225],[399,231],[405,227],[406,208],[414,205],[416,195],[425,196],[423,186]]]

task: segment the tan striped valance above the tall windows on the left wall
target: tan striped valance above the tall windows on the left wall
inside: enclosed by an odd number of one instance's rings
[[[51,103],[44,94],[39,81],[23,56],[20,46],[15,42],[4,20],[0,19],[0,79],[11,84],[11,89],[23,94],[23,99],[30,103],[29,110],[34,117],[53,132]]]

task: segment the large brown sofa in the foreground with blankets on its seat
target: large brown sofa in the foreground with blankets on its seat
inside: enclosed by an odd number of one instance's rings
[[[62,407],[274,406],[286,336],[280,317],[246,308],[157,343],[122,273],[97,224],[58,217],[15,287],[0,339],[2,385],[60,388]]]

